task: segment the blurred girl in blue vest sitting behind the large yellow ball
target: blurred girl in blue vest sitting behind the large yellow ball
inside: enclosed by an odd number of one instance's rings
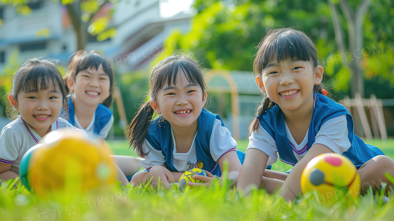
[[[68,73],[63,77],[68,91],[71,125],[86,131],[89,138],[104,142],[114,123],[112,104],[114,73],[101,53],[80,50],[69,58]],[[111,156],[126,176],[139,170],[141,158]]]

